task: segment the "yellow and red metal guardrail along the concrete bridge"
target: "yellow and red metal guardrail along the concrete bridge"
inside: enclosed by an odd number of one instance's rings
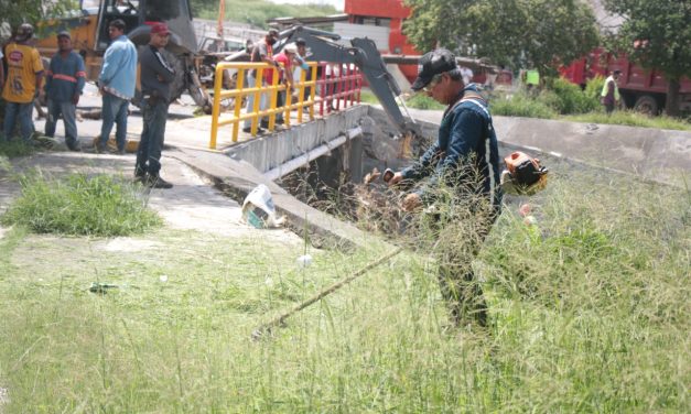
[[[272,65],[266,63],[247,63],[247,62],[224,62],[216,66],[216,77],[214,81],[214,105],[212,111],[212,132],[209,140],[209,149],[215,150],[219,127],[233,126],[233,142],[238,141],[240,122],[251,120],[250,134],[257,135],[260,119],[268,119],[268,129],[276,129],[276,116],[283,112],[283,122],[285,128],[291,126],[291,115],[296,112],[298,123],[302,123],[305,109],[309,112],[309,120],[314,119],[314,107],[318,106],[320,116],[332,110],[339,110],[343,102],[344,108],[348,105],[359,103],[360,88],[363,86],[363,77],[357,68],[343,67],[338,76],[326,77],[325,67],[327,63],[309,62],[310,79],[306,80],[306,70],[301,70],[300,80],[293,83],[293,89],[298,91],[298,99],[293,102],[291,92],[285,94],[285,102],[277,106],[278,94],[285,91],[287,86],[279,83],[279,72]],[[321,67],[322,77],[317,79],[317,68]],[[224,88],[224,72],[237,70],[235,78],[235,88]],[[256,79],[263,79],[264,70],[273,69],[271,85],[262,85],[260,87],[246,87],[247,70],[257,70]],[[320,89],[318,96],[316,89]],[[307,94],[305,94],[307,90]],[[266,94],[266,95],[264,95]],[[253,95],[252,108],[244,110],[245,99]],[[264,95],[268,98],[268,106],[261,109],[260,100]],[[306,96],[305,96],[306,95]],[[222,102],[231,101],[234,107],[231,111],[222,112]]]

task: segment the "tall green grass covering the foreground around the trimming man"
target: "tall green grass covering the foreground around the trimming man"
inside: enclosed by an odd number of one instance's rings
[[[0,239],[0,411],[689,412],[689,190],[551,167],[548,189],[507,199],[474,263],[486,330],[447,328],[432,255],[407,250],[251,339],[382,255],[374,236],[321,251],[260,230],[15,228]]]

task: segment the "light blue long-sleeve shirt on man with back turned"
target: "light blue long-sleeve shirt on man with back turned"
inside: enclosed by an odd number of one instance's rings
[[[104,55],[98,84],[122,99],[132,99],[137,84],[137,48],[121,35],[112,41]]]

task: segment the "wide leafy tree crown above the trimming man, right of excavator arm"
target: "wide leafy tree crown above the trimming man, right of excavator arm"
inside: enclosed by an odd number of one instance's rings
[[[496,64],[553,73],[597,46],[596,20],[581,0],[406,0],[404,31],[421,51],[444,46]]]

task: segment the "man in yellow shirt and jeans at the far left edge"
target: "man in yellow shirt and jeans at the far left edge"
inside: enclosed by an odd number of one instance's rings
[[[4,139],[10,140],[14,124],[19,120],[22,139],[31,143],[34,131],[31,115],[33,100],[41,88],[43,64],[39,51],[30,44],[33,26],[24,23],[4,47],[8,63],[8,77],[2,88],[2,98],[7,101],[4,109]]]

